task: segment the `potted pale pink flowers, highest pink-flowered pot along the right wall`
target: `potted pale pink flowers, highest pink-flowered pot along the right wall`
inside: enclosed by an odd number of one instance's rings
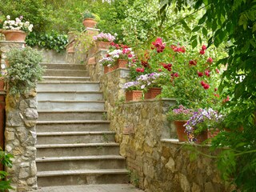
[[[110,42],[114,41],[114,36],[112,34],[100,33],[95,35],[94,41],[98,49],[108,50],[110,48]]]

